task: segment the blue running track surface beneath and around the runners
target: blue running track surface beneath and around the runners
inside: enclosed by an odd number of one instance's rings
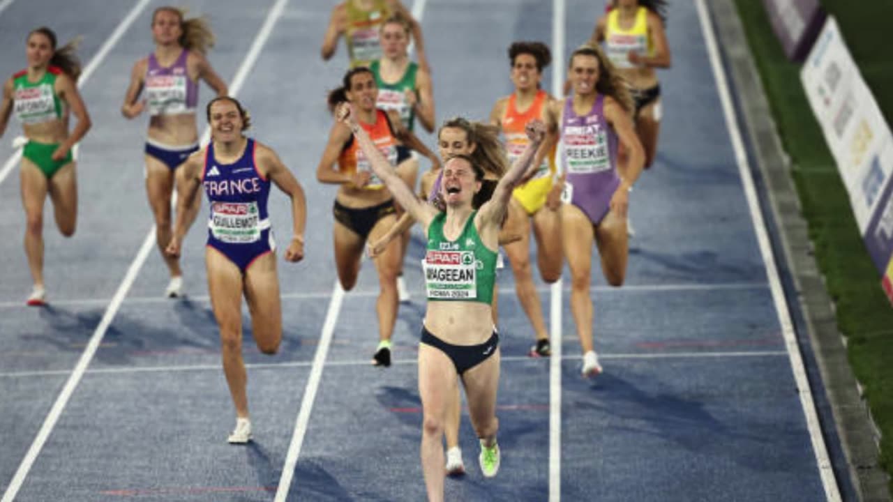
[[[25,35],[40,24],[61,40],[84,34],[79,54],[89,62],[135,3],[71,4],[77,8],[63,13],[54,0],[15,0],[0,13],[0,75],[21,69]],[[0,493],[10,488],[153,224],[143,182],[146,118],[126,121],[119,109],[133,63],[152,49],[150,15],[161,4],[146,7],[82,88],[94,128],[80,149],[78,233],[62,238],[50,205],[45,215],[50,307],[23,305],[30,277],[18,171],[0,184]],[[218,44],[209,57],[224,79],[233,78],[272,4],[188,3],[210,18]],[[314,174],[331,123],[325,92],[339,85],[345,66],[343,44],[332,62],[319,58],[331,4],[290,0],[238,93],[255,138],[278,151],[308,197],[306,258],[279,264],[279,355],[259,353],[246,317],[255,442],[225,442],[233,410],[206,297],[203,210],[184,244],[190,297],[161,298],[167,278],[153,248],[16,500],[273,499],[336,280],[335,188]],[[566,8],[572,49],[588,38],[603,3],[568,0]],[[438,121],[486,118],[511,90],[506,47],[552,39],[552,6],[540,0],[428,0],[423,14]],[[502,466],[484,481],[464,414],[469,473],[447,480],[448,500],[547,500],[555,481],[561,498],[572,501],[825,499],[693,4],[673,2],[667,34],[673,67],[661,72],[663,130],[655,166],[632,194],[637,236],[627,285],[605,288],[593,267],[605,374],[580,379],[565,291],[562,387],[550,389],[549,362],[525,357],[533,333],[506,269],[498,284]],[[200,109],[210,94],[202,88]],[[11,123],[0,142],[0,162],[13,155],[17,127]],[[429,135],[421,138],[433,146]],[[285,197],[271,197],[271,218],[280,241],[287,239]],[[378,289],[370,263],[344,298],[308,404],[289,500],[424,498],[415,365],[421,253],[416,233],[405,264],[413,303],[400,307],[390,369],[368,364]],[[539,286],[544,313],[559,314],[549,312],[549,290]],[[550,423],[553,392],[562,400],[558,423]],[[553,426],[561,428],[561,471],[550,481]]]

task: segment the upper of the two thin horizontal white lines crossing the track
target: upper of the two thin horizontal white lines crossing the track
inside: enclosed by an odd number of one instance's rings
[[[557,286],[556,286],[557,285]],[[557,292],[555,289],[557,288]],[[624,285],[622,288],[613,288],[611,286],[593,286],[589,289],[593,293],[630,293],[630,292],[674,292],[674,291],[715,291],[715,290],[736,290],[736,289],[767,289],[769,288],[769,284],[767,282],[729,282],[724,284],[640,284],[636,285]],[[556,282],[551,286],[539,286],[537,288],[539,293],[552,293],[552,311],[555,312],[555,305],[561,306],[561,295],[562,291],[570,291],[570,289],[562,289],[561,282]],[[500,288],[499,293],[503,295],[511,295],[514,294],[514,288],[506,287]],[[361,291],[351,291],[350,297],[377,297],[379,296],[378,290],[361,290]],[[330,298],[331,293],[323,293],[323,292],[294,292],[294,293],[282,293],[280,297],[283,300],[295,300],[295,299],[323,299]],[[68,299],[68,300],[53,300],[52,306],[79,306],[79,305],[106,305],[110,301],[111,298],[81,298],[81,299]],[[171,300],[171,298],[166,297],[127,297],[124,300],[125,305],[146,305],[146,304],[171,304],[176,305],[176,302],[193,302],[193,303],[205,303],[208,304],[211,302],[211,298],[207,295],[198,295],[195,297],[186,296],[183,299],[179,300]],[[557,301],[557,304],[555,303]],[[23,310],[33,309],[34,307],[29,307],[25,305],[21,301],[15,302],[0,302],[0,309],[4,308],[21,308]],[[555,324],[555,322],[558,322]],[[550,319],[550,327],[549,330],[551,333],[560,333],[561,332],[561,313],[557,313],[557,317],[553,315]]]

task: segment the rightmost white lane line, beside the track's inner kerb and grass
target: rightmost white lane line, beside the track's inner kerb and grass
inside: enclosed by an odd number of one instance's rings
[[[710,13],[707,12],[704,0],[696,0],[696,5],[697,15],[701,21],[701,30],[704,32],[707,54],[710,55],[710,65],[714,71],[716,87],[719,91],[720,101],[722,102],[722,112],[725,115],[726,128],[729,130],[731,144],[735,150],[735,160],[738,163],[739,175],[741,177],[741,182],[744,185],[747,205],[750,208],[751,220],[754,223],[756,239],[760,246],[760,255],[763,255],[763,261],[766,265],[766,275],[769,280],[770,289],[772,290],[772,299],[775,303],[775,310],[781,325],[781,336],[784,338],[785,347],[788,349],[791,370],[794,373],[794,380],[797,382],[797,389],[799,391],[800,406],[803,407],[806,427],[809,430],[809,436],[813,444],[815,461],[819,469],[819,474],[822,477],[822,487],[825,490],[825,497],[830,501],[836,502],[840,500],[840,491],[837,485],[837,480],[834,478],[834,471],[830,463],[828,450],[825,448],[824,439],[822,439],[822,427],[819,424],[818,414],[815,412],[813,392],[809,387],[809,380],[806,378],[803,357],[800,355],[800,347],[797,345],[797,337],[794,333],[794,324],[791,321],[788,304],[785,300],[784,290],[781,287],[781,281],[779,279],[778,268],[775,264],[775,258],[772,255],[772,246],[769,241],[768,232],[766,231],[763,213],[760,212],[759,199],[756,197],[754,180],[751,177],[750,165],[747,162],[747,153],[744,149],[744,142],[741,139],[741,131],[738,127],[735,108],[732,106],[729,85],[726,82],[725,72],[722,68],[722,58],[716,46],[713,21],[710,19]]]

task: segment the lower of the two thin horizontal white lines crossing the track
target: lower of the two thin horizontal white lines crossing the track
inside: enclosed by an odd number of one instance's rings
[[[341,293],[343,295],[343,293]],[[340,301],[340,300],[338,300]],[[329,347],[326,347],[328,351]],[[317,354],[319,354],[319,350],[317,349]],[[553,350],[553,359],[557,359],[555,357],[555,351]],[[668,352],[668,353],[654,353],[654,354],[599,354],[599,359],[605,360],[614,360],[614,361],[622,361],[624,359],[635,360],[635,359],[722,359],[722,358],[739,358],[739,357],[780,357],[780,356],[788,356],[788,352],[785,350],[758,350],[748,352],[746,350],[736,351],[736,352]],[[287,368],[305,368],[310,366],[312,371],[315,370],[318,356],[313,356],[312,361],[288,361],[288,363],[260,363],[260,364],[246,364],[246,369],[249,370],[277,370],[277,369],[287,369]],[[324,359],[324,357],[322,357]],[[580,359],[580,356],[563,356],[563,361],[576,361]],[[529,362],[534,364],[538,359],[534,359],[529,356],[504,356],[501,359],[504,363],[524,363]],[[395,359],[391,362],[393,365],[403,366],[403,365],[413,365],[417,364],[418,360],[413,359]],[[363,360],[353,360],[353,361],[324,361],[322,364],[326,366],[370,366],[368,359]],[[221,370],[220,364],[190,364],[183,366],[142,366],[142,367],[113,367],[113,368],[93,368],[88,369],[87,374],[89,375],[100,375],[100,374],[129,374],[129,373],[166,373],[166,372],[219,372]],[[320,370],[321,372],[321,370]],[[22,377],[51,377],[51,376],[60,376],[68,374],[67,370],[47,370],[44,372],[0,372],[0,378],[22,378]],[[313,376],[313,375],[312,375]],[[308,382],[309,385],[309,382]],[[315,389],[314,389],[315,391]],[[305,394],[306,396],[306,394]],[[306,424],[305,424],[306,426]],[[300,445],[298,445],[298,450],[300,450]],[[300,453],[300,452],[298,452]]]

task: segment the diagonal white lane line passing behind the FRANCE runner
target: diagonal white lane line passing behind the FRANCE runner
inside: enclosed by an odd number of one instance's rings
[[[236,94],[238,93],[238,89],[241,88],[242,83],[244,82],[246,75],[248,74],[248,71],[250,71],[251,67],[254,66],[255,60],[260,54],[260,47],[263,46],[267,38],[270,37],[272,26],[276,22],[276,19],[279,18],[280,14],[282,13],[282,8],[286,1],[287,0],[278,0],[277,3],[271,8],[270,13],[267,14],[266,21],[263,22],[263,26],[255,37],[254,44],[248,51],[246,59],[242,62],[241,66],[239,66],[237,76],[235,79],[233,79],[232,85],[230,85],[230,96],[236,96]],[[140,5],[142,4],[146,4],[146,0],[143,0],[140,3]],[[131,11],[131,13],[132,12],[133,11]],[[207,135],[207,130],[205,130],[205,135]],[[87,348],[84,350],[84,353],[81,354],[80,359],[78,360],[78,364],[75,366],[74,371],[71,372],[71,376],[69,377],[68,381],[65,382],[65,387],[63,387],[63,390],[59,394],[59,397],[56,397],[55,403],[53,405],[53,408],[50,410],[50,413],[46,415],[44,424],[41,426],[40,431],[38,431],[37,438],[35,438],[34,441],[31,443],[31,446],[28,449],[28,453],[22,459],[21,464],[19,465],[19,469],[16,471],[15,476],[13,476],[13,481],[10,481],[6,492],[4,493],[4,497],[0,499],[0,502],[13,502],[13,499],[19,492],[19,489],[21,489],[22,482],[24,482],[25,477],[28,476],[28,473],[31,470],[31,466],[34,464],[35,460],[37,460],[38,455],[40,454],[40,450],[46,443],[46,439],[49,438],[50,432],[53,431],[56,422],[59,421],[59,417],[62,415],[65,406],[68,404],[68,401],[71,398],[71,394],[74,392],[74,389],[78,387],[80,380],[84,376],[84,372],[87,370],[88,364],[90,364],[90,361],[96,354],[96,349],[99,347],[99,344],[102,342],[102,339],[105,336],[105,330],[107,330],[109,325],[112,323],[115,314],[118,313],[118,309],[121,307],[121,303],[123,303],[124,297],[127,296],[127,292],[133,285],[133,282],[137,279],[139,269],[142,268],[144,263],[146,263],[146,257],[149,255],[149,252],[154,247],[154,241],[155,229],[153,226],[152,230],[149,230],[148,235],[146,235],[146,239],[143,241],[142,247],[139,248],[137,257],[134,259],[133,263],[130,264],[127,274],[124,276],[124,280],[121,281],[121,286],[119,286],[118,290],[115,292],[115,295],[112,298],[112,303],[109,304],[109,306],[106,308],[103,319],[96,327],[96,331],[94,331],[93,336],[90,338],[90,341]]]

